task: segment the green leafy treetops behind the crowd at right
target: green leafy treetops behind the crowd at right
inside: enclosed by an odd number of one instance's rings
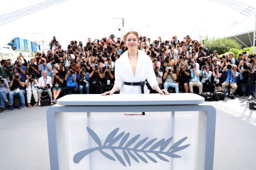
[[[224,54],[229,52],[231,48],[236,48],[241,50],[241,45],[236,41],[229,39],[227,37],[224,38],[212,38],[204,41],[204,45],[209,50],[209,54],[214,53],[215,50],[218,51],[219,54]]]

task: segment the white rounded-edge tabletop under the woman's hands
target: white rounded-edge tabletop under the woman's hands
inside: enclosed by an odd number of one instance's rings
[[[124,106],[124,105],[197,105],[204,98],[194,93],[163,94],[70,94],[57,100],[58,105],[71,106]]]

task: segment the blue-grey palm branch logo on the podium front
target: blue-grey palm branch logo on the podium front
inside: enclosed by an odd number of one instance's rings
[[[141,160],[145,163],[148,163],[147,160],[145,159],[145,157],[150,159],[152,162],[157,163],[157,160],[154,159],[153,157],[151,157],[150,155],[148,155],[148,153],[152,153],[152,154],[156,155],[162,161],[169,162],[169,160],[167,160],[166,158],[164,158],[160,154],[166,155],[166,156],[171,157],[171,158],[181,158],[181,156],[176,155],[174,153],[176,153],[178,151],[181,151],[181,150],[184,150],[187,147],[189,147],[189,145],[190,145],[190,144],[186,144],[186,145],[183,145],[183,146],[179,147],[179,145],[187,139],[187,137],[184,137],[184,138],[180,139],[179,141],[177,141],[176,143],[174,143],[172,145],[172,147],[170,147],[166,152],[163,152],[163,150],[166,149],[167,145],[173,140],[173,137],[170,137],[166,140],[161,139],[161,140],[157,141],[155,144],[153,144],[153,143],[157,140],[157,138],[154,138],[150,141],[147,141],[148,137],[146,137],[146,138],[141,139],[140,141],[138,141],[133,148],[129,148],[132,144],[134,144],[138,140],[140,135],[136,135],[132,139],[127,141],[127,139],[130,136],[130,133],[125,134],[125,132],[122,132],[122,133],[120,133],[119,135],[116,136],[118,130],[119,130],[119,128],[113,130],[108,135],[108,137],[106,137],[106,139],[104,141],[104,144],[102,145],[98,135],[92,129],[87,127],[88,133],[93,138],[93,140],[98,144],[98,147],[88,149],[88,150],[84,150],[84,151],[80,151],[80,152],[76,153],[74,155],[73,161],[75,163],[79,163],[88,154],[90,154],[94,151],[99,151],[106,158],[108,158],[112,161],[116,161],[116,159],[117,159],[123,166],[126,166],[123,158],[115,151],[115,150],[122,150],[123,157],[125,158],[126,162],[130,166],[131,166],[130,157],[138,163],[139,163],[139,160]],[[115,144],[120,139],[121,139],[121,141],[120,141],[118,147],[113,146],[113,144]],[[124,145],[124,143],[126,141],[127,141],[127,143]],[[143,145],[143,147],[141,149],[138,149],[142,145]],[[146,150],[147,148],[149,148],[149,149]],[[157,148],[160,148],[159,151],[156,151]],[[113,156],[111,156],[110,154],[105,153],[104,151],[102,151],[103,149],[111,150],[113,152],[114,156],[116,157],[116,159]],[[131,151],[133,151],[137,157]]]

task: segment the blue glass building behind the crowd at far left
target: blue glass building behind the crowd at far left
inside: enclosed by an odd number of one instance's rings
[[[8,45],[12,46],[12,50],[28,50],[29,52],[38,52],[39,47],[31,40],[15,37]]]

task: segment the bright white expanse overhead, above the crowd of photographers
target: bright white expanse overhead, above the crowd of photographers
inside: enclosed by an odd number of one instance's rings
[[[256,8],[256,2],[239,1]],[[39,8],[39,3],[55,5]],[[237,10],[212,1],[2,1],[0,11],[13,15],[14,11],[37,5],[35,12],[0,26],[0,49],[15,37],[32,41],[44,40],[47,44],[53,36],[66,50],[69,42],[87,42],[87,38],[101,39],[114,34],[122,37],[133,30],[155,40],[177,35],[178,39],[190,35],[199,39],[198,31],[206,29],[208,37],[223,37],[253,30],[253,17],[245,17]],[[18,13],[18,12],[16,12]],[[8,16],[10,16],[8,15]],[[1,18],[1,23],[3,19]],[[124,18],[124,27],[122,19]],[[241,22],[243,21],[243,22]],[[240,23],[239,23],[240,22]],[[121,28],[120,32],[118,29]],[[39,40],[38,40],[39,39]]]

